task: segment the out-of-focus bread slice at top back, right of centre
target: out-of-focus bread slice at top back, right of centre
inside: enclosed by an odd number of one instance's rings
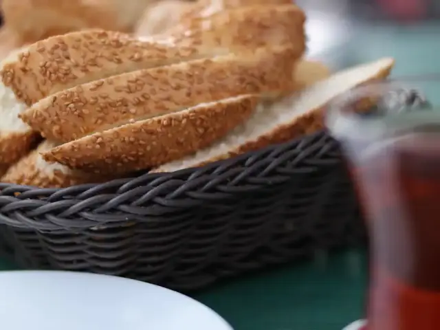
[[[305,51],[304,28],[305,14],[294,4],[252,5],[188,19],[168,30],[166,36],[177,45],[197,46],[207,53],[289,45],[301,56]]]

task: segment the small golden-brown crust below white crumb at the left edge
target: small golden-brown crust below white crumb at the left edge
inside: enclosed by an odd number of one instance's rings
[[[0,132],[0,167],[9,166],[17,162],[23,155],[26,155],[38,141],[39,134],[32,131]]]

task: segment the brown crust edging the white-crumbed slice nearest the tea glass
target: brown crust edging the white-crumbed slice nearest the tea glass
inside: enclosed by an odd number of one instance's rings
[[[378,72],[373,74],[371,78],[361,81],[359,84],[353,86],[364,85],[368,83],[373,83],[377,80],[383,80],[391,73],[391,69],[393,68],[394,61],[391,61],[390,65],[386,65]],[[289,120],[283,124],[279,124],[274,129],[270,131],[265,131],[258,137],[254,139],[247,140],[240,144],[239,146],[230,148],[228,151],[224,153],[219,153],[218,155],[214,155],[210,157],[208,160],[197,161],[196,159],[191,159],[190,165],[188,167],[198,167],[203,166],[212,162],[217,162],[222,159],[228,159],[231,157],[235,157],[236,155],[241,155],[243,153],[247,153],[250,151],[256,151],[271,144],[278,144],[283,142],[288,142],[294,138],[301,137],[303,135],[307,135],[310,133],[314,133],[319,131],[320,129],[324,129],[325,127],[325,108],[327,104],[329,104],[331,100],[328,100],[325,104],[322,104],[321,107],[316,109],[310,109],[303,113],[303,115],[299,115],[298,117]],[[220,142],[221,143],[221,142]],[[192,156],[190,156],[192,157]],[[190,159],[190,157],[188,157]],[[185,166],[186,167],[186,166]],[[152,173],[162,173],[168,171],[179,170],[181,167],[177,164],[173,164],[170,162],[168,164],[164,164],[162,166],[158,166],[151,170]]]

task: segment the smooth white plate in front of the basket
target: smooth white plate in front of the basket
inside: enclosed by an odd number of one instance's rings
[[[177,292],[114,276],[0,272],[0,328],[8,330],[232,330]]]

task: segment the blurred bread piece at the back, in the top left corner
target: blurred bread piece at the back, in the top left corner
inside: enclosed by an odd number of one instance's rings
[[[3,0],[7,25],[22,39],[37,41],[48,36],[87,28],[133,32],[135,23],[153,0]]]

